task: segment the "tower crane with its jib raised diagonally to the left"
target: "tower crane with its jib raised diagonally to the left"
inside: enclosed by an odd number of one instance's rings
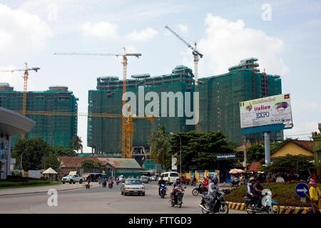
[[[198,61],[200,61],[200,58],[203,58],[203,54],[201,54],[200,52],[198,52],[197,50],[197,43],[194,43],[194,47],[191,46],[188,42],[186,42],[185,40],[183,40],[183,38],[181,38],[180,36],[178,36],[177,33],[175,33],[175,31],[173,31],[172,29],[170,29],[168,26],[165,26],[165,28],[170,31],[170,33],[172,33],[174,36],[176,36],[180,41],[182,41],[183,43],[185,43],[186,46],[188,46],[188,48],[192,49],[192,54],[193,54],[193,58],[194,58],[194,76],[195,76],[195,92],[198,92]],[[199,108],[199,102],[198,100],[195,101],[195,109]],[[195,125],[195,130],[198,131],[198,124]]]

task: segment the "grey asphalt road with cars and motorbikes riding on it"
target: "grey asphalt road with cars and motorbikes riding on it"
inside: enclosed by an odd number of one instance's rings
[[[0,214],[8,213],[138,213],[138,214],[200,214],[200,195],[192,195],[193,187],[188,186],[183,197],[181,208],[171,207],[168,200],[158,196],[156,182],[145,184],[146,195],[121,195],[120,185],[112,189],[101,185],[89,190],[66,190],[58,192],[58,206],[49,207],[50,195],[36,193],[27,195],[9,195],[0,197]],[[54,188],[54,186],[53,186]],[[230,214],[243,214],[238,210],[230,210]]]

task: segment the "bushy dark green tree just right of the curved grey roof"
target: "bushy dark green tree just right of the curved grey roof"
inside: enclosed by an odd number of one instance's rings
[[[19,139],[14,145],[12,157],[16,158],[17,169],[22,159],[23,170],[41,170],[42,157],[50,152],[52,147],[41,138]]]

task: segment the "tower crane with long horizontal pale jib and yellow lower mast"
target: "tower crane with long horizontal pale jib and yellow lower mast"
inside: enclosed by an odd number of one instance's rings
[[[127,78],[127,58],[130,56],[135,56],[139,58],[141,56],[141,53],[126,53],[126,48],[123,48],[123,53],[54,53],[55,55],[72,55],[72,56],[123,56],[123,94],[126,93],[126,78]],[[126,100],[123,100],[123,107],[126,104]],[[142,117],[145,118],[145,117]],[[132,140],[131,143],[129,142],[130,139],[126,139],[126,135],[128,137],[128,133],[126,133],[126,128],[128,130],[131,130],[132,128],[126,127],[126,125],[133,125],[130,124],[131,122],[131,116],[128,118],[128,124],[126,124],[126,118],[125,116],[122,116],[122,132],[121,132],[121,151],[122,151],[122,157],[128,157],[131,156],[130,148],[132,147]],[[129,134],[131,135],[131,134]],[[129,145],[128,145],[129,143]]]

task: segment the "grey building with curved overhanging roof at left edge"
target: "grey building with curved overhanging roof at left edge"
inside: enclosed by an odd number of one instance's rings
[[[0,179],[10,175],[11,137],[28,133],[35,124],[24,115],[0,107]]]

